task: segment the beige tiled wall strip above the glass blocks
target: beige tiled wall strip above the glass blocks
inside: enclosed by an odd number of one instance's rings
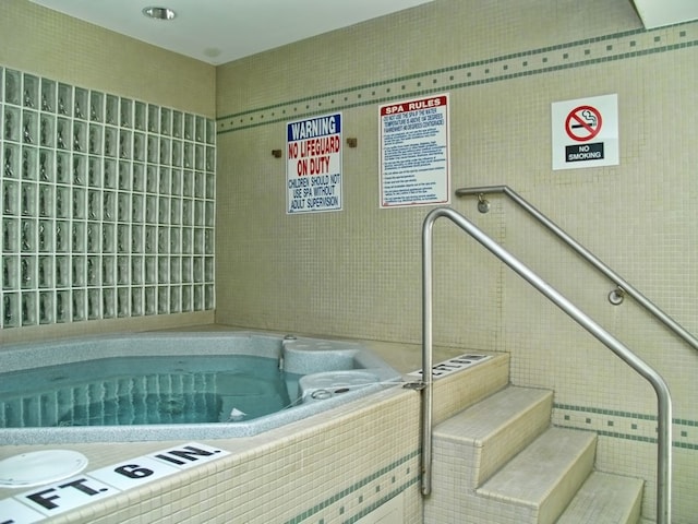
[[[73,85],[215,116],[216,69],[26,0],[0,8],[0,63]]]

